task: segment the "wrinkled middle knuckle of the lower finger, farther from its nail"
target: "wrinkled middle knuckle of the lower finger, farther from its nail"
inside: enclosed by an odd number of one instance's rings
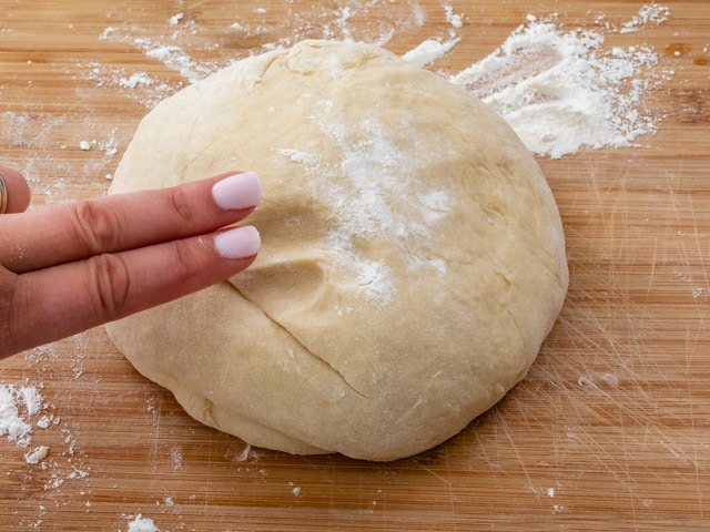
[[[125,262],[119,255],[95,255],[88,260],[89,290],[97,311],[106,319],[123,314],[129,301],[131,279]]]

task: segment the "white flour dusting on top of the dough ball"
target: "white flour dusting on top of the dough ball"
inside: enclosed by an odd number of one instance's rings
[[[275,152],[304,166],[314,197],[333,211],[337,227],[329,233],[327,244],[339,266],[353,272],[367,299],[384,305],[395,295],[392,273],[383,260],[371,260],[358,252],[362,241],[389,235],[409,258],[412,269],[428,266],[439,275],[446,274],[446,263],[429,258],[425,252],[433,226],[450,205],[446,191],[428,191],[422,183],[410,183],[407,186],[414,186],[418,202],[393,201],[403,196],[402,175],[414,172],[386,127],[373,117],[347,123],[331,101],[314,106],[320,112],[310,119],[335,141],[342,153],[341,165],[328,166],[322,156],[291,147]]]

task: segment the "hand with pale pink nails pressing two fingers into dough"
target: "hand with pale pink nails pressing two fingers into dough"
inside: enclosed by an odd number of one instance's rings
[[[252,172],[30,211],[23,177],[0,177],[0,359],[227,279],[261,246],[233,226],[261,200]]]

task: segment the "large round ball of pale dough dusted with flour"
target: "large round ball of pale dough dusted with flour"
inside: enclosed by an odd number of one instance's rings
[[[111,193],[236,168],[262,180],[252,267],[106,326],[195,419],[393,460],[526,375],[567,290],[562,228],[534,158],[469,93],[374,45],[304,41],[159,104]]]

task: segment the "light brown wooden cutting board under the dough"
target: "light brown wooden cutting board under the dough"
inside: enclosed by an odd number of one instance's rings
[[[0,362],[0,382],[41,391],[31,421],[47,424],[29,448],[0,439],[0,530],[136,530],[139,514],[163,532],[708,528],[710,3],[667,3],[667,22],[605,43],[652,47],[673,71],[645,100],[665,116],[658,132],[637,147],[539,157],[570,288],[528,378],[499,405],[393,463],[292,457],[193,421],[89,330]],[[156,101],[280,39],[390,35],[404,53],[455,30],[460,41],[432,66],[453,73],[528,12],[604,30],[642,6],[3,0],[1,158],[28,177],[36,207],[94,197]],[[174,61],[164,47],[179,47]],[[29,464],[37,446],[48,456]]]

